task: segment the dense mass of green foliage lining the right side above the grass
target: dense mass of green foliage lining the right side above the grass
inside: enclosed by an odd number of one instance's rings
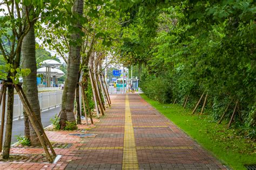
[[[124,60],[147,65],[147,75],[140,77],[145,94],[161,103],[177,98],[179,104],[189,95],[187,107],[193,108],[208,92],[205,113],[214,121],[232,101],[225,116],[230,119],[238,100],[233,128],[255,137],[255,3],[181,1],[154,6],[139,5],[145,11],[133,13],[123,34]],[[152,9],[155,19],[146,22]]]

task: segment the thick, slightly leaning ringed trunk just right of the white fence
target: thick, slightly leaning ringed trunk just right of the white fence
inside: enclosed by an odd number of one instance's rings
[[[76,0],[72,12],[77,15],[83,16],[83,0]],[[82,31],[82,27],[79,23],[75,25],[77,29]],[[82,38],[82,35],[75,32],[71,34],[71,40],[79,40]],[[62,96],[62,111],[60,112],[60,128],[63,129],[66,125],[66,121],[75,122],[75,116],[73,114],[74,109],[74,100],[75,100],[75,91],[79,73],[80,66],[80,49],[81,44],[79,42],[70,42],[69,44],[69,59],[68,59],[68,72],[66,74],[65,86]]]

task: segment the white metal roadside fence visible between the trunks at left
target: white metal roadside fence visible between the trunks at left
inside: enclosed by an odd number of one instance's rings
[[[38,100],[41,111],[56,108],[58,105],[62,104],[62,90],[59,91],[49,91],[38,93]],[[7,111],[7,95],[6,95],[6,107],[5,107],[5,118]],[[2,117],[2,105],[0,107],[0,117]],[[14,120],[23,118],[23,104],[19,99],[19,95],[14,95]],[[0,120],[1,122],[1,120]]]

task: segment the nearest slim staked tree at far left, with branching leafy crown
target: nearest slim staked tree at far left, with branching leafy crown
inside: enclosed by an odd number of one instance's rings
[[[4,12],[0,22],[0,49],[6,62],[5,81],[8,82],[8,103],[6,115],[5,141],[3,148],[3,158],[8,159],[11,145],[12,119],[14,107],[14,86],[12,83],[18,83],[19,76],[25,76],[30,73],[29,69],[21,69],[21,48],[22,41],[29,32],[30,27],[37,20],[38,13],[29,16],[30,5],[35,5],[38,9],[43,6],[42,1],[4,1],[1,3],[1,11],[4,11],[2,5],[8,10]],[[24,10],[21,6],[24,5]],[[10,33],[8,31],[11,30]],[[5,41],[8,46],[4,46]],[[5,44],[6,44],[5,43]]]

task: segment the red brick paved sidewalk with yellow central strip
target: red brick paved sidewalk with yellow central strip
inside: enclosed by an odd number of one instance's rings
[[[78,131],[46,131],[55,148],[56,164],[0,162],[0,168],[30,169],[225,169],[183,131],[139,95],[111,95],[112,106],[96,126]],[[85,131],[85,132],[84,132]],[[85,133],[91,137],[71,136]],[[42,148],[12,148],[12,153],[40,154]]]

